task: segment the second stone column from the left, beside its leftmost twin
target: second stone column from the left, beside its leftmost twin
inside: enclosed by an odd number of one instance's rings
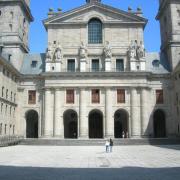
[[[54,120],[54,136],[63,137],[63,120],[62,120],[62,93],[60,89],[55,90],[55,120]]]

